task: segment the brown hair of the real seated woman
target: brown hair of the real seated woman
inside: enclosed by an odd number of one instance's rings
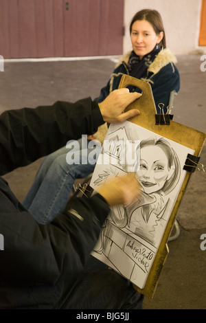
[[[144,9],[138,11],[135,16],[133,16],[132,21],[130,22],[130,34],[132,32],[133,23],[137,20],[146,20],[148,23],[152,25],[152,27],[155,30],[155,33],[159,35],[160,32],[163,32],[163,38],[161,42],[159,43],[159,47],[166,47],[166,38],[165,38],[165,30],[163,27],[163,21],[161,19],[161,15],[157,10],[151,10],[151,9]]]

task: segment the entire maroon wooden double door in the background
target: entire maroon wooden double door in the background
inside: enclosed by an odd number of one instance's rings
[[[0,54],[122,54],[123,21],[124,0],[0,0]]]

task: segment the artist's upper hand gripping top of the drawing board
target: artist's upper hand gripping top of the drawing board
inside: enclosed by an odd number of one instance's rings
[[[104,101],[99,103],[102,118],[105,122],[116,123],[139,115],[139,110],[137,109],[130,109],[126,112],[124,110],[140,96],[141,93],[130,93],[126,88],[112,91]]]

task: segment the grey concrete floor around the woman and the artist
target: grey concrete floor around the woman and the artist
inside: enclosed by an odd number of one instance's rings
[[[200,56],[179,56],[181,91],[174,101],[174,121],[205,133],[206,71]],[[58,62],[6,62],[0,73],[0,113],[7,109],[74,102],[98,96],[115,67],[115,60],[93,59]],[[179,134],[181,136],[181,133]],[[206,147],[201,153],[206,164]],[[41,159],[18,168],[4,177],[14,194],[23,200]],[[152,299],[144,309],[206,309],[206,250],[201,250],[201,234],[206,234],[206,174],[196,170],[187,185],[176,219],[180,235],[168,243],[169,255]]]

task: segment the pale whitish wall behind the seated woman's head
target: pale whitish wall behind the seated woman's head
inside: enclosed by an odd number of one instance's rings
[[[125,0],[124,53],[132,49],[129,25],[141,9],[159,11],[165,27],[167,47],[176,55],[205,54],[206,46],[198,46],[201,0]]]

